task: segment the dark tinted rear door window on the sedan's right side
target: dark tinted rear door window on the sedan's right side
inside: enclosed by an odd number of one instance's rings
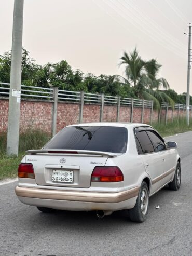
[[[138,133],[136,133],[136,138],[138,138],[144,154],[154,152],[154,147],[146,131],[139,131]]]

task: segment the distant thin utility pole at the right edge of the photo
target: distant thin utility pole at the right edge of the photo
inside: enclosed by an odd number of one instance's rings
[[[186,95],[186,121],[189,125],[189,104],[190,104],[190,63],[191,63],[191,49],[190,40],[191,39],[191,25],[189,23],[189,42],[188,42],[188,67],[187,67],[187,95]]]

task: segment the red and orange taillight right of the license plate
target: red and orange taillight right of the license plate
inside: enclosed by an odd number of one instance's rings
[[[97,166],[92,172],[91,181],[124,181],[124,174],[122,174],[122,171],[117,166]]]

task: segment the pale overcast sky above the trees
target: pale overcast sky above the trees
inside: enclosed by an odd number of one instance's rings
[[[0,1],[0,54],[11,49],[13,4]],[[24,0],[23,47],[37,64],[66,60],[84,73],[122,75],[119,58],[136,46],[182,93],[191,16],[191,0]]]

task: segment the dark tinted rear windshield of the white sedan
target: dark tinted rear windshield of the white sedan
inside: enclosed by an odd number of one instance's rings
[[[44,149],[125,153],[127,129],[112,126],[74,126],[61,130]]]

